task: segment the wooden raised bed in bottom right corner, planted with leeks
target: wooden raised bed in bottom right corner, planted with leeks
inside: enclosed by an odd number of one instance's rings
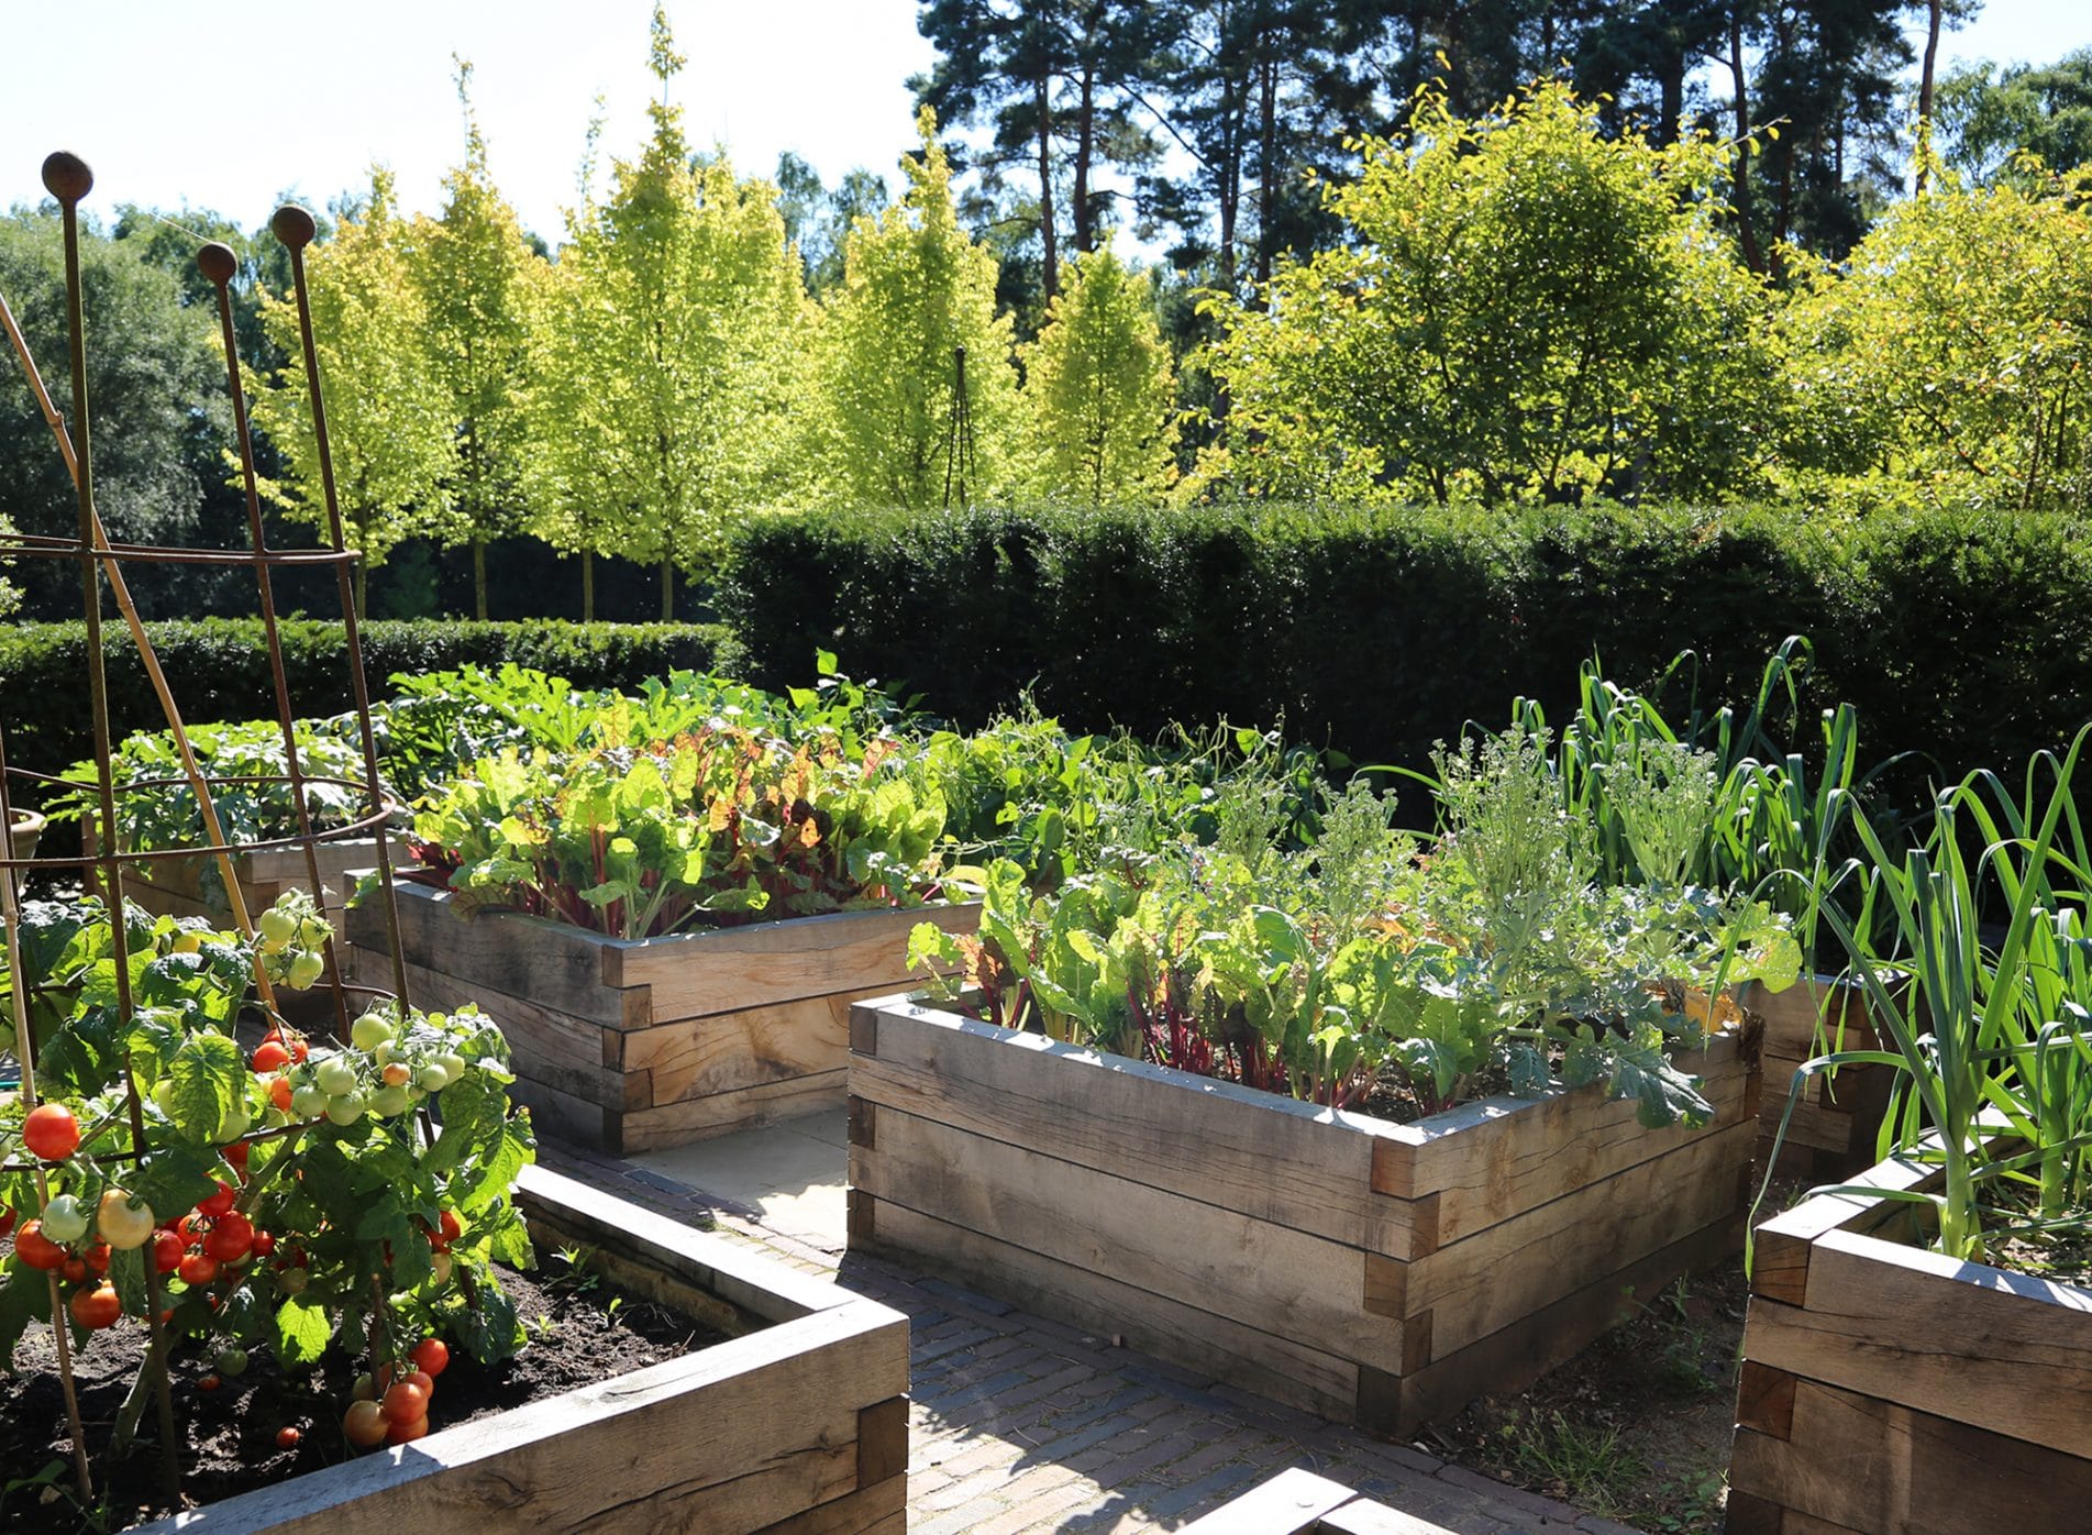
[[[2092,1288],[1927,1253],[1912,1209],[1820,1194],[1757,1230],[1730,1535],[2088,1527]]]

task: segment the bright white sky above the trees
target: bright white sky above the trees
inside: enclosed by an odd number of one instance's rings
[[[745,171],[797,151],[835,184],[889,178],[912,144],[908,75],[931,65],[914,0],[669,0],[690,59],[676,98],[692,142]],[[0,207],[44,194],[52,148],[96,174],[90,209],[184,201],[253,228],[295,190],[324,205],[389,163],[408,207],[435,211],[462,148],[452,52],[494,178],[527,228],[559,240],[594,98],[605,157],[646,134],[651,0],[0,0]],[[1923,15],[1923,8],[1918,8]],[[1956,59],[2052,61],[2092,46],[2086,0],[1989,0],[1948,33]]]

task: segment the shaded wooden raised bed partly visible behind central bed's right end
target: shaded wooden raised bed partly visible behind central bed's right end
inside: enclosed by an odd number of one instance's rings
[[[1770,1161],[1787,1092],[1803,1060],[1818,1054],[1818,1010],[1828,1016],[1828,1035],[1841,1050],[1881,1050],[1868,1023],[1866,995],[1835,977],[1803,977],[1787,991],[1745,987],[1743,1004],[1766,1021],[1766,1092],[1759,1102],[1759,1165]],[[1843,1033],[1839,1029],[1843,1027]],[[1887,1046],[1895,1050],[1891,1041]],[[1778,1171],[1812,1184],[1851,1177],[1874,1165],[1881,1117],[1889,1106],[1895,1071],[1889,1067],[1841,1067],[1837,1079],[1812,1077],[1801,1087],[1787,1121]]]

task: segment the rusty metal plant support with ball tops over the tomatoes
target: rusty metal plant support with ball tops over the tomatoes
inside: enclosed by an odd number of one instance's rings
[[[397,803],[389,801],[383,784],[379,780],[377,765],[377,740],[370,730],[370,688],[364,678],[364,655],[362,636],[356,621],[354,602],[354,567],[362,558],[358,550],[347,548],[343,542],[341,508],[335,494],[335,468],[333,456],[326,441],[326,406],[320,379],[320,360],[312,337],[312,305],[308,301],[305,289],[305,247],[316,234],[312,213],[301,207],[282,207],[270,220],[270,230],[291,253],[291,276],[293,293],[297,299],[297,324],[299,341],[303,345],[305,381],[308,381],[308,404],[312,410],[314,439],[318,443],[320,462],[320,483],[326,506],[326,542],[322,548],[272,548],[266,537],[262,521],[262,502],[255,481],[253,443],[247,429],[247,399],[241,389],[241,366],[238,349],[232,333],[232,299],[228,284],[238,270],[238,259],[224,245],[205,245],[197,253],[197,266],[203,276],[211,282],[218,293],[218,320],[220,337],[226,356],[226,389],[232,399],[232,425],[241,456],[241,475],[247,498],[247,531],[249,548],[245,550],[205,550],[205,548],[176,548],[176,546],[153,546],[153,544],[117,544],[109,537],[100,514],[94,506],[94,450],[90,431],[90,408],[88,408],[88,341],[86,341],[86,316],[82,305],[82,282],[79,282],[79,203],[88,197],[94,186],[94,176],[88,165],[67,153],[50,155],[44,161],[44,186],[59,203],[59,213],[65,232],[65,307],[67,307],[67,333],[69,333],[69,364],[71,364],[71,418],[67,420],[59,408],[52,404],[44,379],[38,372],[36,360],[29,356],[29,347],[15,324],[15,316],[6,307],[4,295],[0,295],[0,328],[6,330],[8,343],[19,358],[27,385],[36,395],[38,408],[44,420],[50,425],[52,437],[56,439],[56,450],[71,473],[73,487],[79,502],[79,529],[71,537],[52,535],[29,535],[29,533],[0,533],[0,556],[8,558],[56,558],[75,560],[79,565],[79,611],[86,619],[86,694],[88,707],[94,721],[94,768],[96,768],[96,803],[90,811],[92,824],[96,828],[94,851],[77,857],[17,857],[17,849],[10,841],[10,830],[15,824],[13,811],[13,786],[15,784],[61,784],[65,780],[46,772],[31,772],[27,768],[17,768],[6,759],[6,719],[0,711],[0,920],[6,926],[6,960],[8,975],[13,977],[10,998],[6,1006],[10,1008],[15,1023],[17,1050],[21,1056],[21,1096],[25,1106],[33,1108],[38,1102],[36,1087],[36,1039],[31,1033],[29,1006],[27,1006],[27,979],[21,964],[21,893],[23,878],[31,872],[46,872],[59,876],[79,876],[88,880],[98,876],[98,887],[109,910],[111,943],[115,947],[115,989],[117,989],[117,1016],[121,1025],[132,1021],[132,989],[130,970],[126,964],[126,895],[123,895],[123,868],[128,864],[146,864],[159,860],[195,857],[199,853],[213,855],[218,860],[220,874],[224,878],[226,897],[232,912],[232,924],[247,939],[253,939],[253,916],[247,910],[247,901],[241,893],[241,883],[234,872],[234,855],[249,853],[257,849],[272,847],[301,847],[305,853],[305,872],[312,880],[312,893],[320,891],[320,866],[316,855],[316,845],[322,841],[339,841],[349,837],[374,837],[377,845],[377,868],[379,883],[377,891],[368,899],[377,899],[385,910],[385,924],[391,935],[391,993],[372,987],[351,987],[343,981],[339,954],[335,952],[335,939],[326,941],[326,972],[324,989],[333,1000],[333,1016],[339,1035],[345,1039],[349,1033],[349,1002],[351,991],[368,993],[372,998],[393,995],[400,1006],[408,1006],[408,981],[404,947],[400,943],[400,912],[393,897],[393,870],[391,870],[391,845],[385,834]],[[276,717],[282,728],[285,744],[285,765],[287,772],[274,778],[209,778],[203,774],[195,751],[188,742],[188,732],[182,726],[182,713],[176,705],[174,692],[167,686],[165,673],[159,667],[159,659],[153,652],[153,642],[138,619],[138,609],[132,602],[130,586],[123,579],[126,565],[247,565],[255,573],[255,586],[259,592],[262,606],[262,629],[268,642],[268,665],[270,680],[274,684]],[[347,648],[347,669],[349,684],[356,701],[356,724],[362,740],[364,776],[362,780],[339,780],[339,778],[312,778],[299,768],[297,753],[297,732],[295,732],[295,711],[291,701],[291,688],[282,663],[282,646],[278,640],[276,621],[276,600],[272,592],[272,573],[278,569],[305,569],[305,567],[333,567],[339,583],[341,598],[341,632]],[[136,646],[138,661],[159,696],[161,711],[167,719],[167,730],[174,736],[176,753],[182,763],[180,778],[159,778],[149,782],[136,782],[117,786],[111,772],[111,726],[109,726],[109,690],[107,673],[103,663],[103,588],[107,586],[109,596],[115,600],[117,611],[130,629],[132,644]],[[351,788],[364,801],[364,814],[351,824],[337,826],[331,830],[314,830],[312,814],[305,803],[305,786],[314,782],[331,782]],[[282,784],[289,788],[291,799],[297,805],[297,834],[268,841],[230,841],[220,824],[218,811],[211,803],[211,788],[226,784]],[[172,847],[151,853],[123,851],[117,837],[117,797],[123,793],[159,793],[172,786],[186,786],[203,811],[205,841],[199,847]],[[259,958],[255,962],[255,989],[262,1004],[274,1014],[276,995],[264,972]],[[132,1154],[144,1148],[144,1115],[138,1098],[138,1085],[126,1071],[126,1110],[132,1131]],[[276,1131],[253,1129],[243,1140],[262,1140]],[[25,1171],[25,1167],[8,1167],[6,1171]],[[38,1194],[48,1198],[48,1188],[44,1184],[42,1165],[36,1167]],[[178,1472],[178,1439],[174,1424],[174,1403],[167,1387],[167,1332],[161,1324],[161,1278],[153,1263],[144,1265],[146,1295],[151,1301],[149,1324],[149,1376],[153,1378],[153,1395],[157,1397],[159,1416],[159,1439],[165,1476],[169,1481],[169,1491]],[[59,1353],[59,1374],[65,1389],[67,1416],[73,1439],[73,1462],[79,1481],[79,1491],[84,1497],[92,1497],[92,1474],[88,1466],[86,1441],[79,1420],[79,1403],[73,1391],[73,1370],[71,1370],[71,1341],[65,1328],[65,1307],[59,1303],[59,1276],[50,1274],[50,1295],[52,1295],[52,1332],[56,1336]]]

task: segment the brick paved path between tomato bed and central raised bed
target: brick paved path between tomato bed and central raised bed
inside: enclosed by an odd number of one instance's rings
[[[1289,1466],[1460,1535],[1636,1535],[883,1259],[822,1253],[615,1156],[544,1140],[538,1159],[908,1313],[910,1535],[1178,1529]]]

